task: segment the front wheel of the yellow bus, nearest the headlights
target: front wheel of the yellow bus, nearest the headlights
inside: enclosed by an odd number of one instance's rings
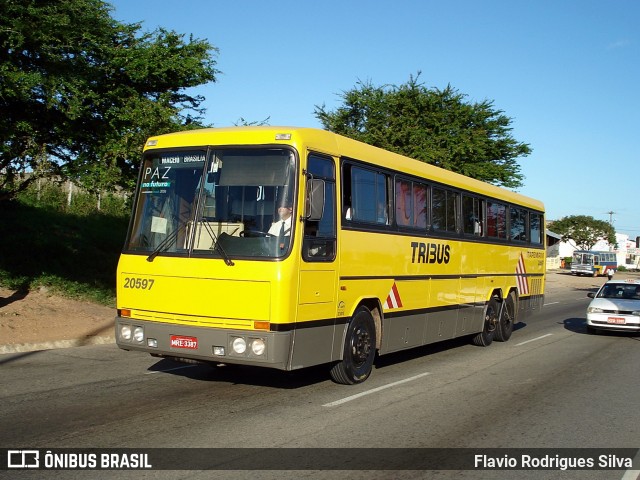
[[[368,308],[356,309],[344,342],[342,360],[331,368],[331,379],[343,385],[362,383],[371,374],[376,354],[376,327]]]

